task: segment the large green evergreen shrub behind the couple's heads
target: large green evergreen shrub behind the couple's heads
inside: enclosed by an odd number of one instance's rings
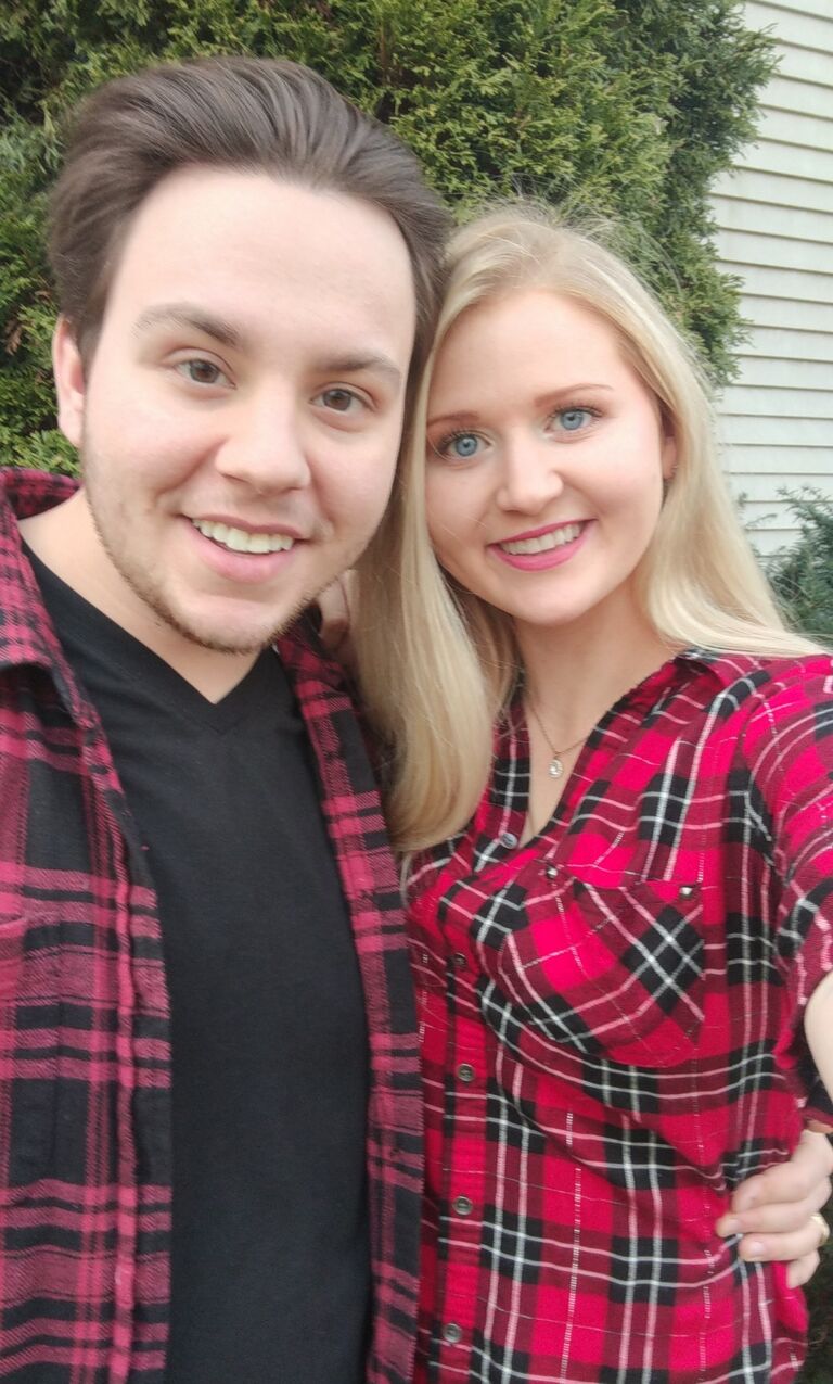
[[[534,192],[639,230],[630,248],[715,375],[739,332],[708,181],[749,138],[771,46],[739,0],[7,0],[0,8],[0,451],[71,464],[53,428],[42,249],[66,107],[203,53],[309,62],[469,208]]]

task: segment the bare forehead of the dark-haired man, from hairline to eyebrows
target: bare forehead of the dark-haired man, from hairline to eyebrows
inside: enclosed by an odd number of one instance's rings
[[[111,296],[131,322],[181,298],[210,311],[221,327],[214,335],[228,340],[256,317],[266,324],[271,314],[278,329],[303,303],[304,318],[318,314],[339,349],[360,354],[363,329],[393,339],[415,316],[408,249],[387,213],[221,169],[183,169],[158,184],[126,237]]]

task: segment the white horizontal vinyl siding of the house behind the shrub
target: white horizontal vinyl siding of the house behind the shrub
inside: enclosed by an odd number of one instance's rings
[[[789,543],[779,491],[833,497],[833,0],[750,0],[778,40],[754,144],[714,188],[718,253],[749,339],[720,403],[725,465],[756,547]]]

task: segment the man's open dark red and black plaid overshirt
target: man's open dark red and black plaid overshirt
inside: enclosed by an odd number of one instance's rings
[[[72,491],[42,473],[3,480],[21,516]],[[0,577],[0,1378],[162,1384],[170,1050],[155,895],[7,504]],[[317,756],[367,994],[367,1380],[408,1384],[421,1099],[397,880],[339,673],[302,631],[280,652]]]

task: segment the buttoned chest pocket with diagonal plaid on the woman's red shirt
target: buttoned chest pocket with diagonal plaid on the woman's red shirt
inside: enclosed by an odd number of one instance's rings
[[[675,1066],[703,1023],[702,913],[696,884],[567,879],[530,897],[526,926],[497,956],[497,987],[538,1038],[584,1057]]]

